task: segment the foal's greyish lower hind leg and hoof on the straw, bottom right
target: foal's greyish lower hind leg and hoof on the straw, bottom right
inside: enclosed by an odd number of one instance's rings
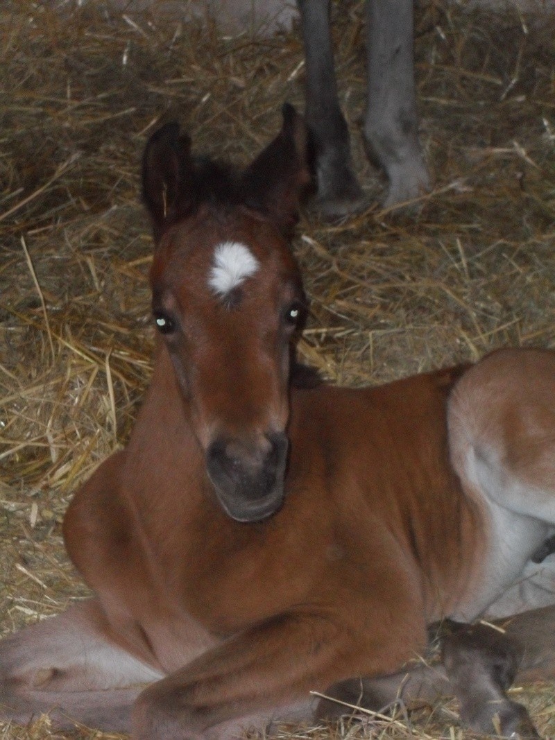
[[[460,702],[461,719],[471,729],[488,734],[500,730],[506,737],[537,738],[525,707],[511,701],[505,691],[517,671],[519,677],[525,677],[523,669],[528,662],[536,662],[539,655],[545,655],[547,647],[555,647],[555,609],[552,612],[551,639],[547,638],[545,616],[542,619],[534,613],[517,616],[506,633],[488,625],[462,625],[446,620],[440,625],[442,664],[422,662],[391,676],[335,684],[326,691],[330,699],[318,705],[317,717],[345,715],[351,713],[349,707],[383,711],[397,702],[435,702],[442,696],[454,695]],[[525,618],[520,619],[521,616]],[[549,645],[540,645],[542,640],[530,641],[534,625]]]

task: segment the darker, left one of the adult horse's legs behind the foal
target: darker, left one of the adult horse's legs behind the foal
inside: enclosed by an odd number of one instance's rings
[[[330,0],[297,0],[306,56],[306,122],[312,132],[318,204],[333,218],[363,201],[351,161],[349,129],[337,99]]]

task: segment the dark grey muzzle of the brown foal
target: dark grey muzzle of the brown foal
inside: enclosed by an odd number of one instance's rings
[[[283,503],[289,446],[285,434],[269,434],[260,445],[216,440],[206,452],[206,469],[218,501],[237,522],[259,522]]]

